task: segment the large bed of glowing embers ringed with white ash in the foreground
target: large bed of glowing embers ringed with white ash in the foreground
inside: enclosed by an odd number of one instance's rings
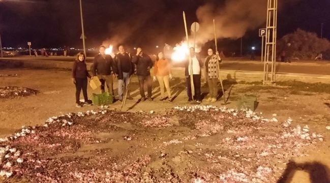
[[[251,111],[176,106],[166,114],[107,109],[49,118],[0,139],[0,175],[32,182],[276,182],[323,141]]]

